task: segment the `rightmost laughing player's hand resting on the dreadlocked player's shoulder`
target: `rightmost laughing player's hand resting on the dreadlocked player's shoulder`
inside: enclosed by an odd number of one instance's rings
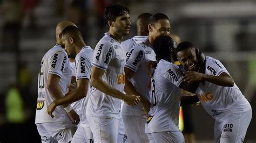
[[[183,76],[183,81],[190,83],[193,81],[201,81],[204,78],[204,74],[198,73],[196,71],[185,71]]]

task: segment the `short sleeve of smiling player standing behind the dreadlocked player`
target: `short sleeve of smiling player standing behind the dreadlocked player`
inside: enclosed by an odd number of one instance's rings
[[[144,50],[139,46],[135,46],[126,54],[126,68],[137,71],[140,63],[144,60]]]

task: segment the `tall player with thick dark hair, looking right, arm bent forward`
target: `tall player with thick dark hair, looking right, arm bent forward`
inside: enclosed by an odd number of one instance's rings
[[[120,46],[130,30],[129,9],[111,4],[104,11],[109,32],[100,39],[93,52],[91,85],[86,116],[95,142],[117,142],[121,100],[136,105],[138,96],[123,93],[125,53]]]

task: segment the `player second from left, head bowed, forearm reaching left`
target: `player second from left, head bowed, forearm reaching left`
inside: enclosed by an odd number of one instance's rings
[[[48,106],[48,112],[52,116],[52,112],[56,106],[70,104],[80,101],[81,122],[74,134],[71,142],[92,142],[93,136],[85,115],[88,96],[90,94],[90,74],[92,67],[93,49],[86,46],[81,32],[76,26],[68,26],[62,32],[62,41],[65,50],[71,58],[75,58],[76,64],[76,80],[77,88],[63,98],[53,101]]]

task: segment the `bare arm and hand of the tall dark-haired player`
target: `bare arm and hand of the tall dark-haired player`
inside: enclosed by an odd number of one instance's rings
[[[91,85],[97,88],[99,91],[104,92],[107,95],[123,100],[129,105],[136,105],[140,101],[137,96],[134,95],[125,95],[123,92],[111,87],[105,81],[103,81],[102,76],[104,75],[105,70],[92,66],[91,73]]]

